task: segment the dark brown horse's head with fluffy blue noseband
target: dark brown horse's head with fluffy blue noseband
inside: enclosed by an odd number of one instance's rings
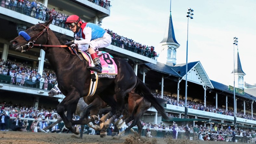
[[[38,23],[26,31],[20,31],[19,36],[10,41],[12,47],[20,52],[25,52],[33,47],[33,44],[45,44],[49,39],[49,25],[52,20]]]

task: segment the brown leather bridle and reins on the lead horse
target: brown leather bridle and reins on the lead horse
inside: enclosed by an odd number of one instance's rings
[[[41,23],[39,23],[39,24],[42,25],[42,26],[44,26],[45,29],[42,30],[41,32],[39,32],[38,34],[35,34],[35,35],[33,35],[33,36],[31,37],[31,38],[36,37],[36,38],[33,40],[33,42],[28,42],[28,44],[25,44],[25,45],[27,45],[27,46],[29,47],[29,48],[27,49],[27,51],[28,51],[29,49],[31,49],[32,47],[34,47],[34,46],[40,46],[40,47],[42,47],[42,46],[43,46],[43,47],[68,47],[69,50],[70,50],[70,52],[71,52],[71,54],[76,55],[77,50],[71,48],[70,46],[67,46],[67,45],[47,45],[46,43],[47,43],[47,41],[49,40],[49,26],[45,26],[45,25],[43,25],[43,24],[41,24]],[[44,34],[44,32],[47,32],[47,39],[46,39],[46,41],[45,41],[45,44],[34,44],[34,42],[36,42],[36,41],[38,40],[38,38]]]

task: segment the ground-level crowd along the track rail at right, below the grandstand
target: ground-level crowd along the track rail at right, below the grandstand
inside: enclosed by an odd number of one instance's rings
[[[141,121],[141,125],[144,129],[150,128],[150,130],[155,131],[165,131],[170,132],[175,131],[177,132],[186,132],[186,125],[177,125],[175,122],[173,125],[164,125],[164,124],[151,124]],[[254,143],[255,142],[255,130],[252,129],[241,129],[238,128],[237,125],[235,126],[223,126],[220,127],[218,124],[212,125],[208,124],[208,126],[202,126],[200,124],[196,124],[195,126],[187,125],[189,130],[189,139],[192,137],[194,140],[206,140],[206,141],[233,141],[232,132],[235,132],[235,136],[240,137],[240,142],[245,143]],[[137,127],[137,126],[135,126]],[[231,128],[232,127],[232,128]],[[147,135],[147,134],[146,134]],[[209,137],[209,138],[208,138]],[[177,137],[173,137],[176,138]],[[183,137],[180,137],[183,138]],[[186,138],[186,136],[185,136]]]

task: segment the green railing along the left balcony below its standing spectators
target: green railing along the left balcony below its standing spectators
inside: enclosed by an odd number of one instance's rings
[[[17,83],[15,79],[16,79],[15,77],[10,77],[10,76],[0,74],[0,83],[16,85],[19,87],[35,88],[35,89],[40,89],[40,83],[41,83],[43,90],[44,90],[45,84],[47,84],[46,90],[51,90],[55,86],[55,84],[52,84],[52,83],[43,83],[40,81],[32,81],[32,80],[20,78],[20,80],[24,80],[24,84],[22,85],[20,83]]]

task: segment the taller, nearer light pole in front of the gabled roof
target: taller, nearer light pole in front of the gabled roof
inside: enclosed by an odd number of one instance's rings
[[[187,46],[188,46],[188,19],[193,19],[194,14],[192,13],[194,10],[191,8],[187,8]],[[185,118],[187,118],[187,49],[186,49],[186,83],[185,83]]]

